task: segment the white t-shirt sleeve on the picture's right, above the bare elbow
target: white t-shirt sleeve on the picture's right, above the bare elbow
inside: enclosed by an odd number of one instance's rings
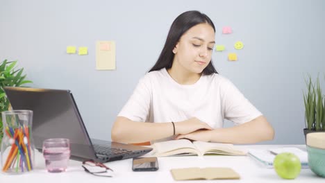
[[[224,80],[221,87],[224,119],[242,124],[263,114],[254,107],[230,80]]]

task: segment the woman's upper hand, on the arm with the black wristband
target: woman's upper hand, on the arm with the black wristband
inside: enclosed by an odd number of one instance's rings
[[[204,123],[193,117],[191,119],[180,121],[175,124],[175,134],[189,134],[190,132],[195,132],[197,130],[213,130],[207,123]]]

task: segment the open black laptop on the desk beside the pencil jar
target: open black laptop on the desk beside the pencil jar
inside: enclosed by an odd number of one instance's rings
[[[33,111],[33,140],[38,150],[42,150],[44,139],[50,138],[69,139],[72,159],[77,160],[111,162],[138,157],[152,150],[131,144],[90,139],[69,90],[28,87],[4,87],[4,90],[13,110]]]

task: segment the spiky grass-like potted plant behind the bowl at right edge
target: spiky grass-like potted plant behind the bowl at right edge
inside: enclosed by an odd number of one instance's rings
[[[325,131],[325,96],[319,84],[319,77],[313,83],[311,76],[306,81],[307,92],[303,92],[303,102],[305,104],[306,128],[303,133]]]

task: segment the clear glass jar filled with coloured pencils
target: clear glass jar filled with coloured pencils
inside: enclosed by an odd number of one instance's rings
[[[2,112],[1,171],[17,174],[33,170],[35,162],[32,135],[33,111]]]

